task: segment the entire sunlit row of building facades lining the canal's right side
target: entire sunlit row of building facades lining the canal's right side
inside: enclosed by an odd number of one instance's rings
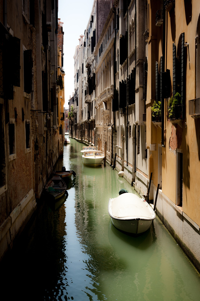
[[[103,150],[140,195],[157,201],[158,216],[200,270],[198,1],[110,4],[94,45],[94,1],[77,49],[85,96],[79,90],[82,131],[73,137]]]

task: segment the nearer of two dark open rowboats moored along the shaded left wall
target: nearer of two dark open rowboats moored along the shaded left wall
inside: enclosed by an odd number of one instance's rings
[[[66,183],[57,175],[53,176],[45,185],[46,193],[48,193],[54,200],[61,198],[66,189]]]

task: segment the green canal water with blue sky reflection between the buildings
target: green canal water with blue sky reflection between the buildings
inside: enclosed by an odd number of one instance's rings
[[[200,275],[161,221],[139,237],[115,229],[109,198],[133,187],[109,165],[84,166],[70,141],[56,167],[77,174],[68,197],[38,203],[0,266],[1,300],[199,301]]]

